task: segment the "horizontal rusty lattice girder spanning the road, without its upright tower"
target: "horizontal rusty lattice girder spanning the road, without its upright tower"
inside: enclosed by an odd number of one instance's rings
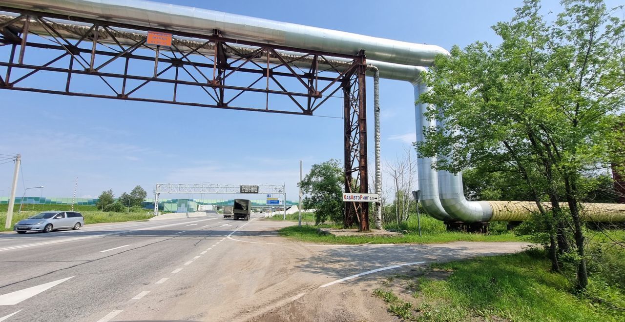
[[[341,89],[344,76],[357,66],[357,56],[229,39],[221,37],[219,31],[209,35],[174,32],[170,47],[154,48],[146,44],[146,32],[168,31],[1,6],[0,10],[15,12],[14,16],[0,17],[0,43],[11,46],[9,59],[0,61],[0,66],[6,67],[4,79],[0,76],[2,89],[312,115]],[[41,37],[27,37],[29,34]],[[49,61],[24,63],[29,52],[26,49],[49,55]],[[69,61],[66,66],[59,67],[59,62],[65,61]],[[154,73],[129,73],[142,61],[153,62]],[[307,66],[306,71],[300,66]],[[16,71],[24,74],[16,78]],[[22,80],[41,71],[66,74],[66,84],[59,84],[64,88],[21,87]],[[168,71],[174,76],[168,76]],[[74,89],[72,76],[77,74],[99,79],[99,90],[109,94]],[[239,85],[230,81],[234,74],[254,77]],[[121,79],[122,84],[114,84],[114,79]],[[287,84],[288,79],[294,81]],[[131,81],[140,84],[131,87]],[[171,84],[171,98],[160,98],[161,90],[138,92],[151,83]],[[204,95],[185,100],[180,97],[181,86],[199,88]],[[261,106],[236,106],[241,94],[251,92],[265,95]],[[269,94],[286,95],[296,109],[274,108],[269,104]]]

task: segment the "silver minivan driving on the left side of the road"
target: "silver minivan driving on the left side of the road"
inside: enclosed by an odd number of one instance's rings
[[[13,226],[17,233],[44,232],[58,229],[78,230],[84,225],[84,217],[79,212],[41,212],[20,220]]]

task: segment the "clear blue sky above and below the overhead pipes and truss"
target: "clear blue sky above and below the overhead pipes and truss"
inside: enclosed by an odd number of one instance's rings
[[[512,17],[521,1],[186,0],[177,4],[449,49],[477,40],[498,42],[492,24]],[[543,6],[559,11],[557,1],[544,1]],[[7,57],[8,47],[0,47],[0,55]],[[37,59],[32,54],[28,58]],[[1,67],[0,72],[4,73]],[[367,89],[372,163],[371,79]],[[0,97],[0,154],[22,154],[26,187],[44,185],[47,197],[71,197],[78,177],[78,197],[97,197],[109,188],[119,195],[135,185],[152,197],[154,183],[211,182],[286,183],[288,198],[296,199],[299,160],[304,160],[306,173],[313,163],[343,155],[341,119],[11,90],[0,91]],[[410,84],[381,81],[382,160],[394,159],[414,140],[413,102]],[[333,111],[340,104],[324,109],[321,114],[336,115]],[[241,143],[250,148],[241,150]],[[9,195],[11,178],[12,164],[0,165],[0,196]],[[19,180],[19,196],[24,183]],[[39,191],[29,190],[28,195],[39,196]]]

